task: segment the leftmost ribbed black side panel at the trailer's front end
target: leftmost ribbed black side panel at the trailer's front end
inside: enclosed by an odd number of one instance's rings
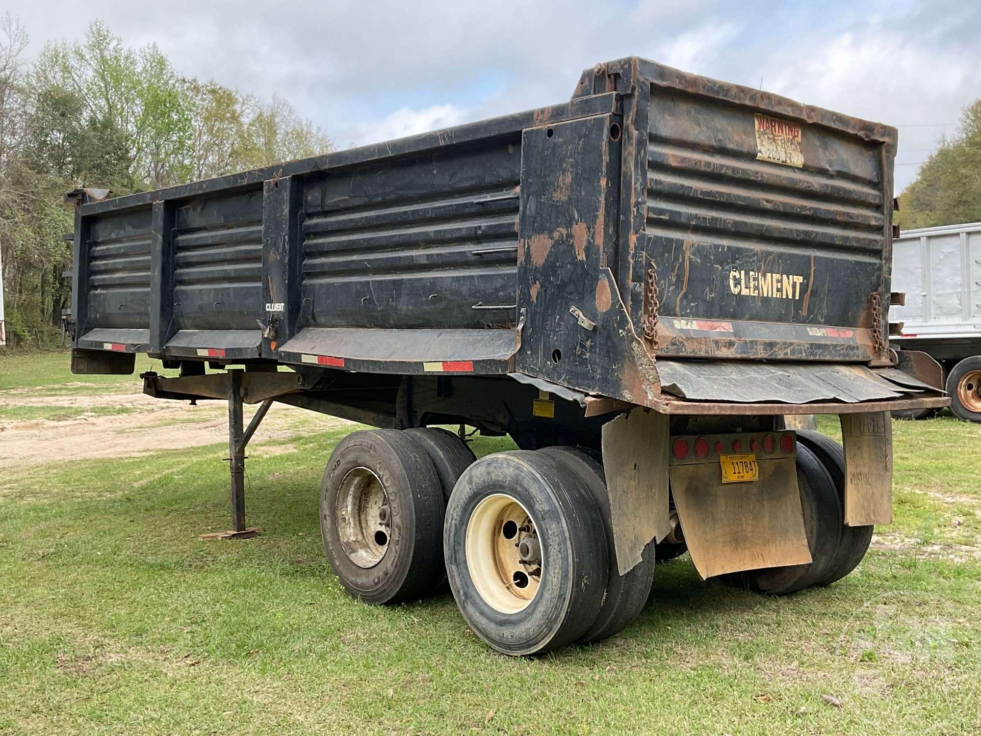
[[[151,214],[144,207],[92,222],[86,329],[149,329]]]

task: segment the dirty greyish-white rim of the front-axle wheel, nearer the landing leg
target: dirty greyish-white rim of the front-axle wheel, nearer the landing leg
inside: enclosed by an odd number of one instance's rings
[[[382,480],[373,470],[347,471],[337,489],[337,538],[347,557],[358,567],[374,567],[391,541],[391,511]]]

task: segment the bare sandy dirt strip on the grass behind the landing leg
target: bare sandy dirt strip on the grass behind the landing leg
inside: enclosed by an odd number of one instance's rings
[[[130,457],[159,449],[181,449],[228,442],[228,417],[224,401],[199,401],[197,406],[167,401],[145,394],[93,394],[84,396],[26,396],[0,394],[10,404],[62,406],[130,406],[129,414],[81,417],[68,421],[30,420],[0,422],[0,470],[25,467],[52,460],[92,457]],[[245,422],[255,411],[245,407]],[[352,422],[325,414],[276,404],[270,409],[253,443],[284,439],[303,431],[322,432]],[[250,448],[253,454],[292,451],[280,447]]]

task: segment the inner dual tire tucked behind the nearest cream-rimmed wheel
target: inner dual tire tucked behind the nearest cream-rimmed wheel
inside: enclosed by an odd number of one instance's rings
[[[641,561],[626,575],[621,576],[617,567],[616,548],[613,544],[613,522],[610,518],[603,466],[595,459],[592,452],[579,447],[545,447],[539,452],[557,458],[578,475],[590,490],[599,508],[606,533],[609,574],[599,615],[580,642],[583,644],[600,642],[619,634],[633,623],[644,609],[654,580],[654,546],[652,543],[648,544]]]

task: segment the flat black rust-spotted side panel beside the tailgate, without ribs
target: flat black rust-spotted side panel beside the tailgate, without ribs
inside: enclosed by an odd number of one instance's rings
[[[608,266],[617,250],[611,214],[621,122],[595,116],[522,136],[518,307],[528,318],[515,365],[551,383],[656,407],[654,361]]]

